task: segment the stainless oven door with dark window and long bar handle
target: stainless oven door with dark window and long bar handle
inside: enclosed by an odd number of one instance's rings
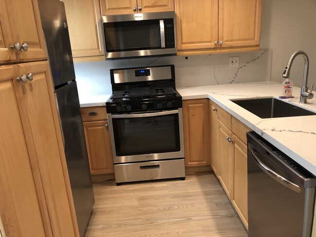
[[[182,108],[107,117],[114,164],[184,157]]]

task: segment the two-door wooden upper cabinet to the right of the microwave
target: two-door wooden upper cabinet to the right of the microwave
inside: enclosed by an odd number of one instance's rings
[[[261,0],[175,0],[178,55],[258,50]],[[196,9],[196,10],[195,10]]]

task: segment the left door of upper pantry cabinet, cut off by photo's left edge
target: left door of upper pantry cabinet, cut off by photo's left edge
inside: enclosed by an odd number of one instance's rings
[[[17,61],[16,54],[10,49],[10,45],[14,43],[9,17],[6,12],[6,4],[4,0],[0,0],[0,63]]]

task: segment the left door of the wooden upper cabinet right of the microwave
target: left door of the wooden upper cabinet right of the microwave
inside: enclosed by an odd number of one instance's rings
[[[178,50],[217,48],[217,0],[175,0],[175,11]]]

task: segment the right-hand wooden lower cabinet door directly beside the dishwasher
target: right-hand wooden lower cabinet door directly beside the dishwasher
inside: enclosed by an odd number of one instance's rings
[[[233,185],[231,202],[248,229],[247,146],[233,135]]]

